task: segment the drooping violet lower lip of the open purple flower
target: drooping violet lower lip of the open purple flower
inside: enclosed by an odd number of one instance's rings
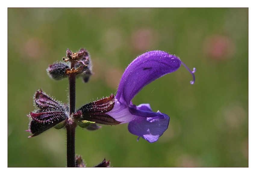
[[[148,104],[141,104],[137,109],[151,110],[150,107],[148,108]],[[157,141],[168,128],[170,120],[170,117],[166,114],[160,113],[159,111],[157,113],[162,114],[164,117],[145,118],[136,116],[133,121],[129,122],[128,130],[130,133],[142,137],[150,143]]]

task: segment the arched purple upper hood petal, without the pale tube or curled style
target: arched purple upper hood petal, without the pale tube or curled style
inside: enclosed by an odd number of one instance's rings
[[[163,51],[150,51],[138,56],[126,68],[120,80],[116,99],[128,106],[133,97],[147,84],[176,71],[181,61]]]

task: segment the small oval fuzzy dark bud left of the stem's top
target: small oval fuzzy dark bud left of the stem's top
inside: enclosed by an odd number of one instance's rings
[[[65,69],[69,68],[68,65],[63,63],[54,63],[53,65],[49,65],[46,69],[47,74],[54,80],[61,80],[68,75],[65,74]]]

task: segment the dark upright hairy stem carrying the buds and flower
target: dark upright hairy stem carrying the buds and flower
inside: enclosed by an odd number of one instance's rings
[[[71,63],[71,69],[74,64]],[[76,73],[69,76],[69,118],[67,119],[67,167],[75,167],[75,129],[76,122],[73,121],[72,114],[75,112],[76,106]]]

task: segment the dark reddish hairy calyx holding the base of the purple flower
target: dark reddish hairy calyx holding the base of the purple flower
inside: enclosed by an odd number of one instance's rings
[[[86,104],[79,109],[82,112],[81,120],[87,120],[104,125],[120,124],[121,122],[118,122],[113,117],[106,114],[106,112],[113,109],[114,104],[115,100],[113,94],[108,98],[103,98]]]

